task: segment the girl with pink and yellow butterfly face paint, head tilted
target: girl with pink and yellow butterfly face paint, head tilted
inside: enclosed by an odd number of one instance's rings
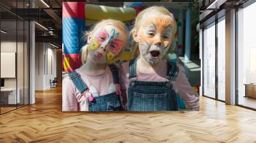
[[[82,49],[83,66],[63,79],[63,110],[123,110],[118,70],[108,61],[114,59],[127,41],[124,23],[102,20],[86,33]]]

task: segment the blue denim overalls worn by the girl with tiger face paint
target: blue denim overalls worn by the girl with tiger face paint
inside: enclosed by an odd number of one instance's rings
[[[127,110],[129,111],[164,111],[178,110],[177,95],[173,80],[179,68],[168,61],[166,82],[131,81],[128,88]],[[137,77],[136,61],[129,63],[129,79]]]

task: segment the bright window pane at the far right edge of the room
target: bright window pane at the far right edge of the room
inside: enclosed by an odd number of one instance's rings
[[[238,104],[256,109],[256,3],[237,11]],[[247,85],[246,85],[247,84]],[[255,86],[253,86],[255,85]]]

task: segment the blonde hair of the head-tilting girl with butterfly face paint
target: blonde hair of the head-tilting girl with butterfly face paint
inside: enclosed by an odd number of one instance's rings
[[[101,20],[100,22],[97,22],[97,24],[95,24],[93,27],[91,27],[91,30],[86,31],[86,33],[84,33],[84,36],[83,36],[84,40],[87,40],[89,35],[92,36],[92,34],[95,33],[95,31],[97,31],[97,29],[99,29],[100,27],[106,26],[106,25],[113,25],[115,27],[118,27],[118,29],[124,31],[125,40],[124,40],[124,43],[122,45],[122,50],[124,50],[124,47],[126,45],[127,38],[128,38],[128,33],[126,31],[125,24],[123,22],[119,21],[119,20],[106,19],[106,20]],[[81,52],[81,61],[82,61],[83,64],[85,64],[86,61],[87,61],[87,57],[88,57],[88,53],[89,53],[88,46],[89,46],[89,44],[87,43],[81,49],[82,50],[82,52]],[[122,50],[121,50],[121,52],[122,52]]]

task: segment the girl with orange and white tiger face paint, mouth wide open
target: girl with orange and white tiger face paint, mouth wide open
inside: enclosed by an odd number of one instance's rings
[[[127,110],[178,110],[177,94],[191,110],[199,110],[198,94],[190,86],[184,68],[168,61],[175,48],[177,24],[166,8],[152,6],[141,11],[131,31],[134,59],[122,64],[122,94]]]

